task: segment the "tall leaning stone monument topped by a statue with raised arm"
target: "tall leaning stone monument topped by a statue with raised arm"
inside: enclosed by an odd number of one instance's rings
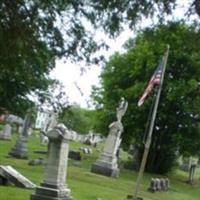
[[[112,177],[117,177],[119,175],[117,150],[120,146],[120,137],[123,132],[121,119],[127,110],[127,106],[127,101],[122,98],[119,107],[117,108],[117,121],[111,123],[109,126],[110,131],[103,152],[100,155],[100,158],[92,164],[92,172]]]

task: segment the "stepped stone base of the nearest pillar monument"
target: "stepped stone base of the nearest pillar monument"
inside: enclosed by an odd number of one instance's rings
[[[72,200],[70,189],[67,187],[54,188],[48,184],[41,184],[36,192],[31,195],[31,200]]]

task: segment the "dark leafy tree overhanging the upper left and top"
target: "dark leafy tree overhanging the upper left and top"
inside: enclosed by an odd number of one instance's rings
[[[2,0],[0,2],[0,105],[20,113],[26,95],[46,89],[55,59],[94,62],[97,28],[116,36],[124,23],[134,27],[143,17],[170,14],[176,0]],[[190,12],[199,14],[199,0]],[[88,28],[86,25],[89,24]]]

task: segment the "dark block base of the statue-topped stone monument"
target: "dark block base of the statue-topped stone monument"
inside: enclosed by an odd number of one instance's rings
[[[104,176],[118,177],[119,168],[112,163],[107,163],[103,161],[96,161],[92,164],[91,172],[96,174],[101,174]]]

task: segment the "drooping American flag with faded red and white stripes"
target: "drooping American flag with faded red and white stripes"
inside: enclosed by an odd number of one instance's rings
[[[153,73],[153,76],[151,77],[143,95],[140,97],[138,101],[138,106],[141,106],[144,103],[144,100],[147,98],[147,96],[151,93],[153,88],[157,85],[160,85],[161,82],[161,76],[163,72],[163,59],[159,63],[158,67],[156,68],[155,72]]]

